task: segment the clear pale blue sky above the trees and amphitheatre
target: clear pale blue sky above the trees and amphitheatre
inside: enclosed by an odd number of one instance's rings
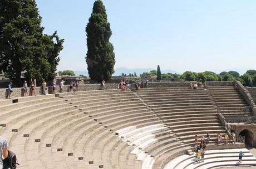
[[[65,39],[58,70],[86,70],[92,0],[36,0],[45,33]],[[254,0],[105,0],[115,68],[256,69]]]

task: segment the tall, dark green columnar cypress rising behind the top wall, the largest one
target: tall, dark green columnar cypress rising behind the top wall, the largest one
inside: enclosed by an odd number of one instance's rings
[[[86,63],[91,79],[101,82],[108,80],[114,73],[115,53],[109,39],[112,35],[107,22],[106,9],[102,1],[97,0],[86,26],[87,55]]]

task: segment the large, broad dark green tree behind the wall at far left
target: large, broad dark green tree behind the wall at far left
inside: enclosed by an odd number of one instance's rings
[[[52,79],[63,39],[42,33],[35,0],[1,0],[0,9],[0,71],[17,86],[25,70],[27,80]]]

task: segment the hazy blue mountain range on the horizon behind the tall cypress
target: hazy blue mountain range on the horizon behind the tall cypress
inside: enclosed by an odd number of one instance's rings
[[[149,72],[150,70],[156,70],[156,69],[153,69],[153,68],[134,68],[134,69],[129,69],[129,68],[116,68],[115,69],[115,73],[113,74],[113,76],[119,76],[121,75],[122,73],[124,74],[134,74],[134,71],[136,72],[136,74],[139,76],[140,74],[144,73],[144,72]],[[76,76],[79,76],[79,75],[85,75],[85,76],[88,76],[88,71],[87,70],[75,70],[74,71]],[[161,73],[177,73],[179,74],[178,71],[175,71],[175,70],[171,70],[171,69],[164,69],[164,70],[161,70]]]

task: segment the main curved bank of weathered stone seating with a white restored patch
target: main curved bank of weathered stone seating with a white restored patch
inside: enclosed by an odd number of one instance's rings
[[[210,146],[225,133],[213,98],[182,87],[28,96],[0,101],[0,135],[18,168],[160,169],[193,150],[195,134],[209,132]]]

